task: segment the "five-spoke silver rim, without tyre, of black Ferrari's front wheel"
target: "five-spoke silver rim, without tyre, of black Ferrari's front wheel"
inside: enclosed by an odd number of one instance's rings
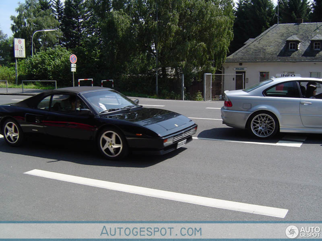
[[[100,150],[111,159],[116,159],[118,156],[121,156],[124,145],[124,141],[114,130],[105,130],[99,137]]]

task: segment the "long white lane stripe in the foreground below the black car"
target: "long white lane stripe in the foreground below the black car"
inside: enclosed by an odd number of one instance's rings
[[[157,190],[157,189],[146,188],[146,187],[138,187],[138,186],[132,186],[127,184],[121,184],[121,183],[112,183],[112,182],[107,182],[102,180],[72,176],[72,175],[67,175],[62,173],[48,172],[48,171],[43,171],[38,169],[25,172],[25,174],[51,178],[51,179],[70,182],[70,183],[78,183],[78,184],[83,184],[83,185],[88,185],[93,187],[105,188],[105,189],[114,190],[114,191],[128,192],[128,193],[144,195],[149,197],[187,202],[187,203],[203,205],[208,207],[248,212],[248,213],[260,214],[260,215],[266,215],[266,216],[272,216],[272,217],[278,217],[278,218],[285,218],[287,212],[289,211],[287,209],[260,206],[260,205],[242,203],[242,202],[226,201],[226,200],[207,198],[207,197],[201,197],[201,196],[194,196],[194,195],[189,195],[184,193],[169,192],[169,191]]]

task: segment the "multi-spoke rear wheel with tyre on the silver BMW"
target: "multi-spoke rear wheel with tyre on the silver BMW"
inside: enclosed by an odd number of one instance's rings
[[[251,134],[257,138],[273,137],[279,130],[276,116],[268,111],[254,113],[248,123]]]

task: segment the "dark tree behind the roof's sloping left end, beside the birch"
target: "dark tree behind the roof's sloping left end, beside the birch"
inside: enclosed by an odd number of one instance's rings
[[[270,28],[273,25],[274,13],[271,0],[240,0],[235,13],[234,40],[230,52],[235,52],[245,41]]]

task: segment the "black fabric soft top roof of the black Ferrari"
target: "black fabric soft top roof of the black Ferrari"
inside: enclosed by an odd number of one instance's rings
[[[111,88],[105,88],[100,86],[76,86],[76,87],[66,87],[66,88],[60,88],[60,89],[54,89],[54,90],[48,90],[44,91],[40,94],[36,94],[30,98],[27,98],[23,101],[13,103],[12,105],[15,106],[21,106],[21,107],[29,107],[34,108],[36,107],[36,104],[39,103],[40,100],[44,98],[44,96],[51,95],[51,94],[79,94],[82,92],[88,92],[88,91],[95,91],[95,90],[112,90]]]

